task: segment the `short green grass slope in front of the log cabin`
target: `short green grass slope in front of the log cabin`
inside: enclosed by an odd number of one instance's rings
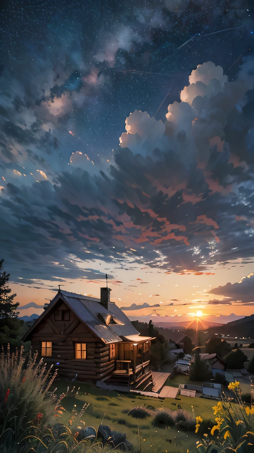
[[[56,381],[57,393],[66,391],[68,383],[64,380]],[[135,419],[127,415],[126,410],[135,406],[152,406],[155,409],[168,407],[172,410],[178,408],[188,410],[192,414],[191,405],[194,406],[195,416],[201,415],[204,418],[213,416],[213,401],[201,398],[188,398],[180,396],[177,400],[166,398],[149,398],[139,395],[130,395],[128,393],[119,393],[117,391],[103,390],[89,384],[75,381],[75,389],[80,387],[78,395],[75,397],[66,397],[62,401],[63,407],[67,413],[61,415],[58,422],[68,424],[70,412],[76,405],[75,410],[79,412],[85,402],[89,403],[88,409],[81,417],[85,426],[94,426],[97,428],[103,420],[103,424],[108,425],[112,430],[126,433],[126,438],[132,442],[135,450],[138,449],[138,426],[141,432],[141,453],[186,453],[196,451],[196,442],[199,439],[198,434],[179,431],[177,428],[157,428],[151,424],[152,418],[144,420]],[[72,387],[71,387],[72,388]],[[173,404],[172,404],[173,403]],[[194,404],[193,404],[194,403]],[[81,425],[80,419],[75,419],[72,424],[72,431]]]

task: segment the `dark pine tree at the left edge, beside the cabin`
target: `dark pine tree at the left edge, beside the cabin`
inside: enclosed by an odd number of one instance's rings
[[[0,260],[0,319],[6,318],[17,318],[19,312],[16,309],[19,306],[19,302],[14,303],[14,297],[17,294],[11,294],[11,289],[8,286],[9,274],[1,272],[3,269],[4,260]]]

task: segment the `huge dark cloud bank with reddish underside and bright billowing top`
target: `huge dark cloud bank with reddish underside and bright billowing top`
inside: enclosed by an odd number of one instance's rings
[[[198,65],[164,122],[135,110],[119,148],[94,161],[75,125],[50,113],[52,99],[86,89],[77,75],[61,72],[59,91],[46,77],[48,99],[33,109],[3,102],[0,240],[14,277],[97,280],[77,259],[100,258],[202,271],[253,254],[254,59],[230,82]]]

